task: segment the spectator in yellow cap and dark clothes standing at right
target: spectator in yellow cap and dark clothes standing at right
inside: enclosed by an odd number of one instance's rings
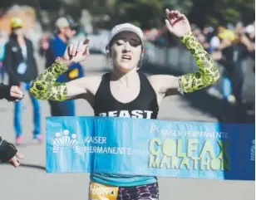
[[[244,47],[241,46],[240,38],[244,27],[239,23],[235,30],[236,32],[224,27],[218,28],[219,47],[217,52],[219,51],[221,55],[219,63],[224,66],[224,101],[219,121],[243,123],[246,119],[243,104],[244,74],[241,68],[241,55]],[[235,115],[230,115],[230,103],[235,105]],[[234,119],[231,116],[234,116]]]

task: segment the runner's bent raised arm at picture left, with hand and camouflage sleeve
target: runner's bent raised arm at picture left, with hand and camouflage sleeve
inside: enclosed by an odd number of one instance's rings
[[[36,80],[29,90],[30,94],[39,100],[63,101],[87,92],[86,86],[90,78],[83,77],[67,83],[56,82],[58,76],[68,70],[71,62],[86,60],[89,56],[88,41],[66,47],[63,59],[55,61]]]

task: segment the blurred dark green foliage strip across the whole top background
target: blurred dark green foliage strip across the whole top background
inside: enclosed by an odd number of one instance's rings
[[[255,12],[254,0],[10,0],[0,1],[0,7],[17,2],[57,12],[64,6],[66,13],[75,18],[85,8],[91,12],[96,26],[106,28],[122,22],[132,22],[143,29],[163,27],[166,7],[185,13],[190,22],[200,27],[252,22]]]

